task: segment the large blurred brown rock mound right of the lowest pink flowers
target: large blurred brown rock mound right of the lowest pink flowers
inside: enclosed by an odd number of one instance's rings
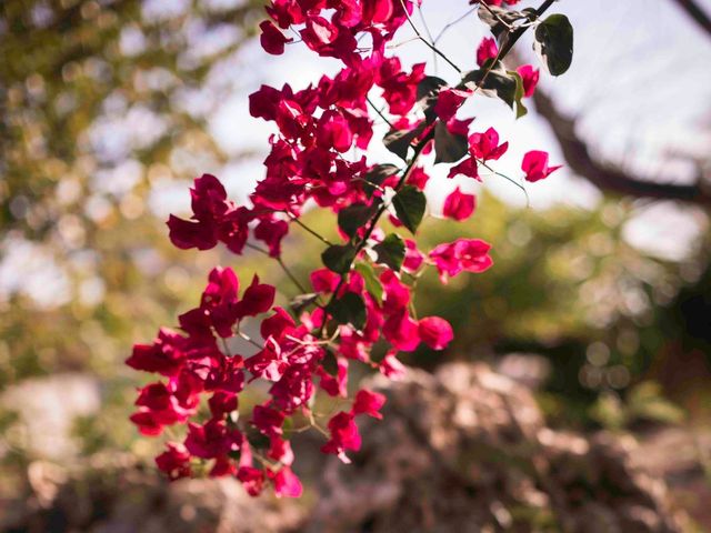
[[[483,364],[370,386],[384,422],[363,424],[352,465],[330,462],[309,532],[681,531],[633,441],[545,428],[530,391]]]

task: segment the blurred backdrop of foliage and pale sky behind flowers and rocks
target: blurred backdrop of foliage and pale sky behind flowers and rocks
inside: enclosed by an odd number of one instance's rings
[[[421,282],[420,313],[447,318],[458,335],[444,353],[405,360],[428,372],[483,361],[530,388],[551,429],[633,435],[694,531],[711,531],[711,2],[554,8],[575,30],[571,70],[543,74],[519,121],[483,100],[461,114],[511,142],[502,172],[517,177],[529,149],[565,167],[530,185],[529,202],[495,177],[474,187],[432,169],[421,248],[482,238],[495,268],[445,290]],[[415,22],[437,37],[468,9],[424,2]],[[126,454],[150,472],[160,443],[128,421],[146,376],[123,360],[193,305],[210,268],[259,271],[286,288],[282,303],[293,295],[260,257],[173,250],[164,225],[188,208],[196,175],[220,177],[236,201],[262,177],[271,130],[249,117],[249,93],[338,69],[298,44],[266,58],[254,40],[262,17],[261,1],[0,2],[3,529],[26,531],[18,516],[44,509],[38,467],[44,480],[57,465],[100,471],[97,457]],[[483,36],[473,13],[439,46],[471,69]],[[453,81],[421,43],[399,52]],[[537,61],[530,41],[517,53]],[[377,141],[372,153],[390,158]],[[438,218],[455,184],[478,194],[463,224]],[[307,217],[324,233],[333,225]],[[320,251],[292,233],[284,254],[306,279]],[[9,512],[17,501],[29,511]]]

